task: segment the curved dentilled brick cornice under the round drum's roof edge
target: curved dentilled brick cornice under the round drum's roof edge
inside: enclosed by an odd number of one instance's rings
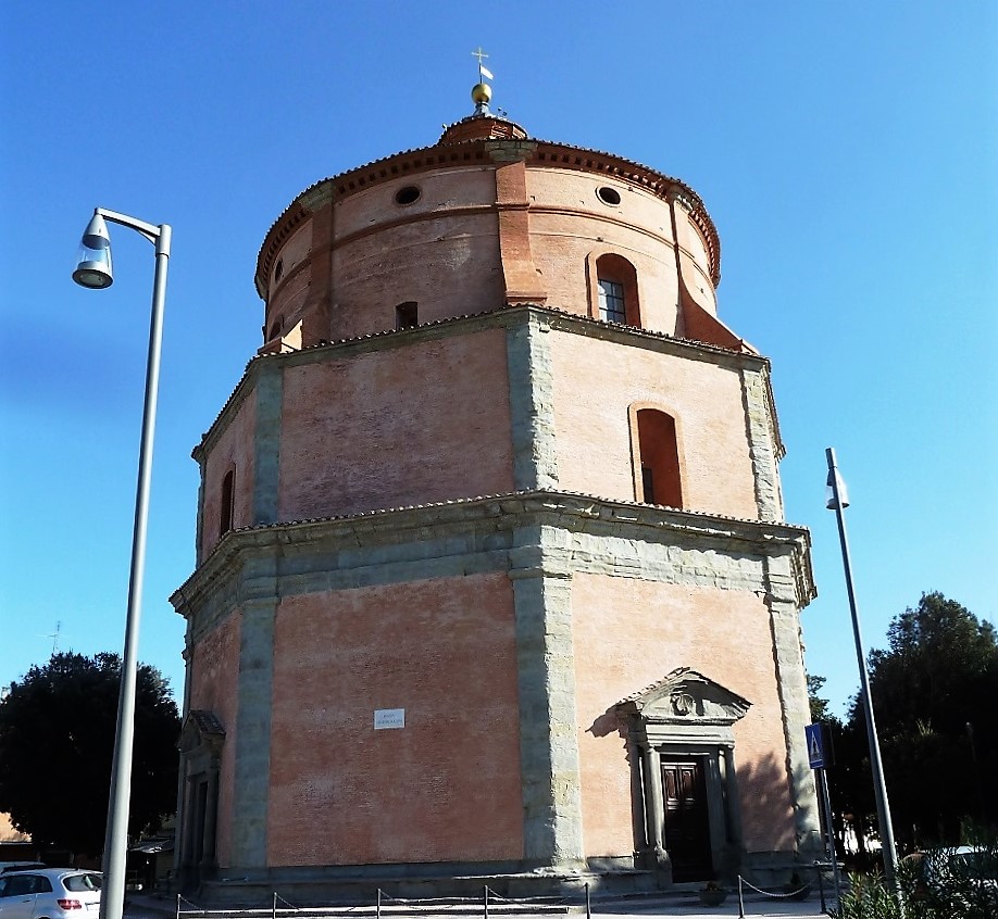
[[[507,153],[509,155],[507,155]],[[703,236],[710,259],[710,276],[714,287],[721,281],[721,239],[700,197],[681,179],[613,153],[572,147],[549,140],[479,139],[457,143],[438,143],[395,153],[362,166],[348,169],[332,178],[321,179],[298,194],[274,222],[264,237],[257,256],[254,284],[261,299],[266,278],[277,251],[297,226],[315,207],[327,201],[337,202],[351,194],[404,176],[416,176],[446,166],[491,165],[510,159],[525,160],[534,167],[575,169],[631,182],[663,200],[679,194],[688,207],[689,217]]]

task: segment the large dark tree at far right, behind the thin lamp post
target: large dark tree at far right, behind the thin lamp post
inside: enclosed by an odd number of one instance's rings
[[[941,593],[897,616],[869,656],[870,692],[895,835],[910,846],[960,842],[968,821],[998,822],[985,777],[998,773],[998,640]],[[862,727],[862,706],[850,721]]]

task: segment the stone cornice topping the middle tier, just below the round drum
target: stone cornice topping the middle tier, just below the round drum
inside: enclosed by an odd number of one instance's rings
[[[731,351],[715,344],[707,344],[690,339],[674,338],[664,332],[638,329],[633,326],[622,326],[619,323],[607,323],[582,316],[577,313],[566,313],[553,306],[534,303],[501,306],[483,313],[473,313],[464,316],[453,316],[425,323],[411,329],[387,329],[379,332],[357,338],[346,338],[339,341],[326,342],[304,348],[300,351],[286,351],[258,354],[246,366],[242,378],[236,385],[229,398],[222,406],[214,421],[202,435],[201,442],[191,451],[191,455],[199,463],[202,462],[205,451],[225,429],[235,411],[244,398],[252,391],[257,375],[265,362],[286,362],[287,366],[299,364],[319,363],[324,360],[342,360],[372,351],[384,351],[394,348],[403,348],[419,341],[433,341],[458,335],[471,335],[476,331],[491,328],[509,328],[510,326],[525,323],[534,313],[547,322],[550,328],[587,338],[598,338],[603,341],[614,341],[619,344],[629,344],[635,348],[660,351],[665,354],[675,354],[694,361],[709,361],[714,364],[727,364],[731,367],[765,368],[769,380],[769,358],[759,354]]]

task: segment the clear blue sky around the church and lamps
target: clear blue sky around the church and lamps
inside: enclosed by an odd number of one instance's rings
[[[70,279],[95,206],[174,228],[140,657],[179,693],[191,448],[260,344],[253,266],[312,182],[494,106],[681,177],[722,240],[724,320],[772,357],[808,666],[858,684],[824,449],[868,646],[943,591],[995,620],[998,4],[9,3],[0,252],[0,684],[121,652],[152,248]]]

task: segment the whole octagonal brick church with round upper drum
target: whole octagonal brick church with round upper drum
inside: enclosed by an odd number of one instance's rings
[[[195,449],[202,896],[778,881],[818,854],[770,364],[682,180],[488,109],[267,231]]]

